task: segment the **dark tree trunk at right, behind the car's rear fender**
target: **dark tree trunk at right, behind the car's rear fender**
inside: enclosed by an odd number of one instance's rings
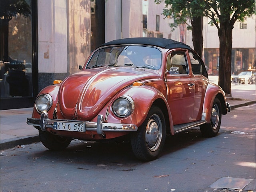
[[[230,23],[220,23],[218,35],[220,39],[219,83],[226,96],[231,97],[231,55],[232,29]]]

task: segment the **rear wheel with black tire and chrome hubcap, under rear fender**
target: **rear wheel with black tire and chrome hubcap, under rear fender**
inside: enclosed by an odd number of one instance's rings
[[[215,137],[220,131],[220,123],[221,123],[221,104],[218,98],[214,99],[212,105],[212,113],[211,113],[211,121],[210,123],[200,125],[200,131],[203,137]]]

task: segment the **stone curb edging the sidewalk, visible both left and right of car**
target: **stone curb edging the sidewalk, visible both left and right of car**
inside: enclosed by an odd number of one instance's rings
[[[231,106],[231,110],[238,108],[238,107],[244,107],[248,105],[252,105],[256,103],[256,101],[248,101],[246,103],[241,103],[238,105],[233,105]],[[40,142],[39,135],[36,136],[31,136],[31,137],[24,137],[24,138],[16,138],[16,139],[6,139],[7,141],[4,141],[3,143],[0,144],[0,150],[5,150],[8,148],[13,148],[17,145],[22,145],[22,144],[31,144],[31,143],[37,143]],[[2,141],[1,141],[2,142]]]

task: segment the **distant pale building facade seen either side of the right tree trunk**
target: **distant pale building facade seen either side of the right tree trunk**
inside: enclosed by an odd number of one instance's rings
[[[218,75],[219,38],[216,26],[208,25],[209,19],[204,18],[204,62],[209,67],[209,74]],[[256,20],[255,15],[244,22],[236,22],[232,30],[232,64],[231,72],[255,69],[256,62]]]

